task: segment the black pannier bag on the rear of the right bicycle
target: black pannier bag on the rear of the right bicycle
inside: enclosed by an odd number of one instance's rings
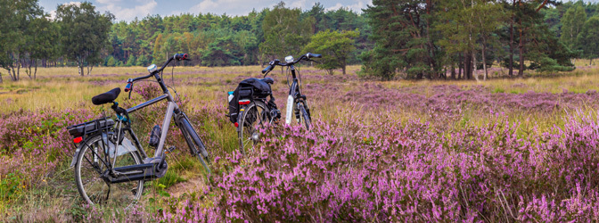
[[[270,85],[262,79],[247,78],[242,80],[235,88],[233,99],[229,102],[229,120],[233,123],[237,122],[240,99],[266,98],[272,94]]]

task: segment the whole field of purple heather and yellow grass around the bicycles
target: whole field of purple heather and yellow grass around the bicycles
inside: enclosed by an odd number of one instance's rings
[[[172,175],[148,185],[150,193],[127,211],[81,204],[65,127],[100,117],[101,109],[89,99],[140,74],[56,74],[0,85],[2,218],[599,220],[595,68],[567,77],[484,83],[379,82],[304,69],[303,90],[315,128],[264,129],[262,144],[242,156],[225,116],[226,91],[243,78],[258,77],[259,70],[185,68],[175,72],[174,81],[165,74],[209,146],[212,174],[201,174],[180,133],[172,131],[167,144],[178,148],[168,160]],[[279,71],[273,78],[277,103],[284,107],[287,79]],[[120,96],[125,107],[160,94],[152,83],[135,87],[131,100]],[[162,113],[154,106],[133,114],[142,141]]]

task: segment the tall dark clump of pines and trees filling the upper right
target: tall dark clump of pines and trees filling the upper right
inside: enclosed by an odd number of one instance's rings
[[[599,54],[598,4],[553,0],[373,0],[363,70],[382,78],[488,78],[488,68],[573,70]]]

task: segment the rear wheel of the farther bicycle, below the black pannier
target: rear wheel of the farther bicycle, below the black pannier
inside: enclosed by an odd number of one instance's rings
[[[259,128],[270,124],[270,110],[267,105],[260,101],[254,101],[245,107],[242,107],[239,115],[239,127],[237,134],[239,136],[239,149],[242,154],[253,149],[260,141]]]

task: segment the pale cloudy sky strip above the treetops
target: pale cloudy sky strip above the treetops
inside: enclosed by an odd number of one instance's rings
[[[99,12],[110,11],[115,15],[117,21],[132,21],[135,17],[142,19],[148,14],[160,14],[161,16],[193,13],[205,14],[215,13],[227,15],[246,15],[253,9],[260,11],[263,8],[273,7],[280,0],[87,0],[95,5]],[[355,12],[362,12],[372,0],[285,0],[285,5],[291,8],[309,9],[316,2],[323,4],[326,10],[336,10],[341,7]],[[44,11],[53,14],[59,4],[77,4],[73,0],[40,0],[39,4]]]

